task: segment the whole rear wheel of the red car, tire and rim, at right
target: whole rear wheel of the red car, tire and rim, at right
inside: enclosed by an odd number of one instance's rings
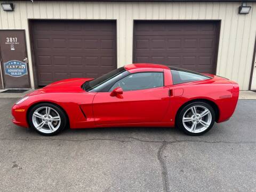
[[[183,107],[178,114],[177,125],[189,135],[202,135],[209,131],[215,122],[213,108],[205,102],[193,102]]]

